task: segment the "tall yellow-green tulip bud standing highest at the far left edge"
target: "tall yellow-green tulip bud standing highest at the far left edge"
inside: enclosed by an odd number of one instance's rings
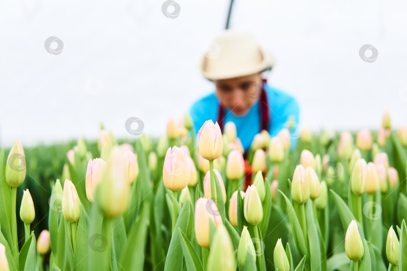
[[[26,178],[27,163],[23,145],[17,140],[10,150],[6,163],[6,182],[11,187],[19,187]]]

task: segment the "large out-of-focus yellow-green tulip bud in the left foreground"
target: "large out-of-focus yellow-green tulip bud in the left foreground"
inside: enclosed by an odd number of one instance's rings
[[[129,207],[129,172],[119,147],[112,149],[107,163],[98,185],[97,198],[104,214],[108,218],[114,218]]]

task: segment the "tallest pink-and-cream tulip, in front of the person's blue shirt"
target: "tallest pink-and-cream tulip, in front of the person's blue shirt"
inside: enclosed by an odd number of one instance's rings
[[[213,161],[222,155],[223,138],[218,122],[205,121],[198,132],[199,153],[206,160]]]

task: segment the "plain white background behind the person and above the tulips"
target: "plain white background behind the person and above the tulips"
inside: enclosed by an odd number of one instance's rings
[[[168,116],[213,89],[197,63],[229,0],[177,0],[175,19],[163,2],[2,0],[0,145],[96,138],[101,121],[131,137],[131,116],[163,134]],[[407,124],[406,0],[236,0],[231,28],[275,54],[269,82],[296,96],[301,124],[377,128],[386,109],[394,126]],[[61,54],[45,50],[50,36]],[[375,62],[359,57],[364,44]]]

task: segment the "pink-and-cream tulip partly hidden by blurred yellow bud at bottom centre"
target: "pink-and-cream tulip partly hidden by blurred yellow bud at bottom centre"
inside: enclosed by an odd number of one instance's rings
[[[195,237],[196,242],[205,248],[209,248],[209,225],[210,219],[219,227],[222,217],[216,204],[211,199],[199,198],[195,202]]]

